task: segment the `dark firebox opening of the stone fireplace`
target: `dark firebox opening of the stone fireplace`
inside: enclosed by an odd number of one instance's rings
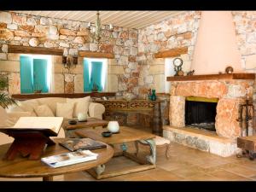
[[[216,131],[217,98],[189,96],[185,102],[185,125],[207,131]]]

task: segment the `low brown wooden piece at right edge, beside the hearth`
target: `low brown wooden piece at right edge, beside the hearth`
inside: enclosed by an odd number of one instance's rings
[[[249,159],[254,160],[256,157],[256,136],[238,137],[237,147],[243,149],[243,155],[248,154]]]

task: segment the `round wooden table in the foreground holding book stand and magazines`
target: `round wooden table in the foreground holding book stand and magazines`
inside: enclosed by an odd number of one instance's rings
[[[69,152],[66,148],[58,144],[61,142],[61,138],[54,139],[54,141],[56,144],[47,147],[42,157]],[[93,150],[94,153],[99,154],[96,160],[52,168],[45,165],[41,160],[27,160],[27,158],[22,157],[17,157],[15,160],[3,160],[10,144],[0,146],[0,177],[43,177],[43,181],[52,181],[53,176],[85,171],[96,166],[101,166],[113,157],[113,148],[107,145],[107,148]]]

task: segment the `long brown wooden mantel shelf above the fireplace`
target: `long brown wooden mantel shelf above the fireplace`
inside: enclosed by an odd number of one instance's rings
[[[205,74],[167,77],[167,81],[197,81],[197,80],[218,80],[218,79],[237,79],[252,80],[255,79],[255,73],[232,73],[232,74]]]

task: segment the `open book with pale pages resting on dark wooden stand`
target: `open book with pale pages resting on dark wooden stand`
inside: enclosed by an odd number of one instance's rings
[[[20,117],[14,127],[1,128],[0,131],[43,131],[48,136],[57,136],[63,117]]]

